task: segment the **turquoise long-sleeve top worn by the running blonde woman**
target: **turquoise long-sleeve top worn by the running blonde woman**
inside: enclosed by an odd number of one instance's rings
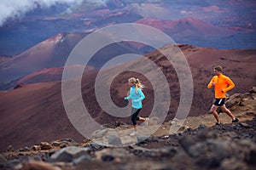
[[[137,88],[137,92],[135,90],[135,86],[131,86],[130,95],[125,97],[125,99],[131,99],[131,107],[135,109],[142,109],[143,104],[142,101],[145,99],[145,95],[141,88]]]

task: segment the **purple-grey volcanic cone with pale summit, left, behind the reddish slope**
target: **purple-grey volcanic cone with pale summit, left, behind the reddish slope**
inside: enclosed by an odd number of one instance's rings
[[[49,37],[44,42],[38,43],[22,54],[10,59],[3,58],[0,63],[0,82],[9,83],[42,69],[63,67],[75,45],[86,35],[82,33],[59,33],[54,37]],[[134,53],[137,50],[139,49],[131,47],[131,44],[127,42],[113,43],[96,52],[95,56],[91,57],[88,65],[99,69],[108,59],[112,59],[119,54]],[[84,57],[86,57],[86,54],[84,54]],[[81,63],[77,65],[81,65]],[[8,87],[4,89],[6,88]]]

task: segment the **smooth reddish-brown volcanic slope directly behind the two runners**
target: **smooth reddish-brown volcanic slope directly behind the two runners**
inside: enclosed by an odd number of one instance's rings
[[[167,45],[163,50],[169,50],[172,46]],[[236,83],[236,87],[229,94],[248,92],[255,86],[256,49],[220,50],[181,44],[178,47],[188,60],[193,77],[194,97],[189,116],[204,115],[212,105],[213,92],[207,89],[207,83],[213,76],[212,65],[222,65],[224,75],[229,76]],[[166,116],[166,122],[168,122],[175,116],[179,105],[180,89],[176,71],[158,51],[147,54],[145,57],[160,66],[169,82],[171,105]],[[103,81],[108,81],[108,76],[119,69],[138,64],[140,63],[135,60],[110,67],[104,70],[107,76],[103,77]],[[157,77],[150,66],[143,66],[150,76]],[[91,72],[84,75],[82,79],[81,93],[90,115],[101,124],[114,124],[116,121],[130,123],[129,117],[114,117],[102,111],[96,101],[94,88],[96,74],[97,72]],[[144,89],[147,98],[143,101],[141,116],[148,116],[154,105],[154,88],[148,81],[147,75],[126,71],[115,77],[110,89],[113,103],[119,107],[127,105],[123,98],[129,90],[127,84],[129,77],[138,77],[147,87]],[[158,88],[162,88],[161,83]],[[76,96],[71,96],[71,100],[73,99],[76,99]],[[24,84],[20,88],[0,92],[0,108],[0,150],[6,150],[9,144],[21,147],[55,139],[83,139],[67,119],[61,99],[61,82]]]

